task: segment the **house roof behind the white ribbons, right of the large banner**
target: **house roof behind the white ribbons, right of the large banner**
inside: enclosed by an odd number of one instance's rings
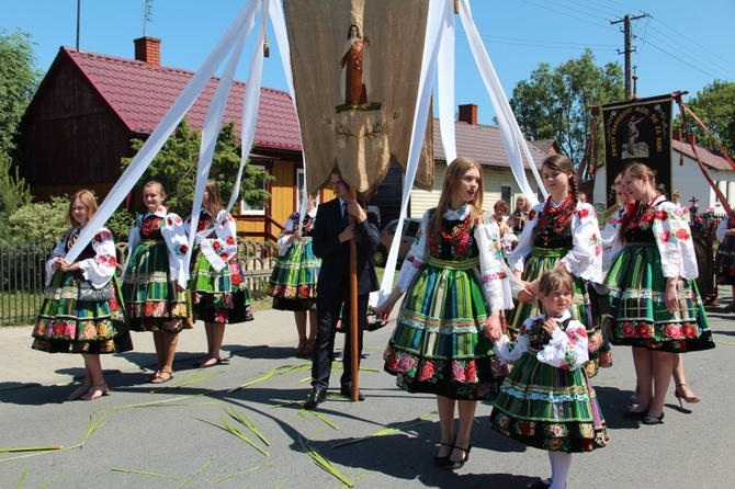
[[[464,122],[455,122],[454,132],[456,138],[456,153],[459,156],[470,157],[485,167],[510,168],[505,146],[502,146],[500,129],[498,127],[487,125],[475,126]],[[533,146],[530,141],[528,147],[536,168],[541,169],[541,163],[549,155]],[[434,159],[446,160],[438,120],[434,120],[433,125],[433,148]],[[530,170],[525,158],[523,158],[523,168]]]

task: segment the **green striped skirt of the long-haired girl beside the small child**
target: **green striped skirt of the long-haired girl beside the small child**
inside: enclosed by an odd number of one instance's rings
[[[486,399],[494,389],[493,343],[477,258],[430,258],[414,278],[383,354],[384,368],[409,393]]]

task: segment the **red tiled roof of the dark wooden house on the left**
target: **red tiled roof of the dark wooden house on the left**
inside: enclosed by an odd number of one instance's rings
[[[133,133],[150,134],[177,96],[194,76],[193,71],[151,67],[135,59],[61,48],[95,87],[121,121]],[[212,78],[189,111],[189,124],[202,128],[207,107],[219,79]],[[223,122],[242,117],[245,83],[234,82]],[[301,151],[296,112],[289,93],[269,88],[260,90],[255,144],[275,149]]]

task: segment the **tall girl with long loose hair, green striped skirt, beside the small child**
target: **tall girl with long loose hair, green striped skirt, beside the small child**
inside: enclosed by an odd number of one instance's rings
[[[470,459],[477,400],[488,398],[495,382],[491,341],[500,337],[501,311],[512,307],[498,226],[482,205],[479,166],[455,159],[439,206],[423,214],[396,287],[377,308],[386,318],[406,293],[385,371],[409,393],[437,396],[441,440],[433,464],[452,469]]]

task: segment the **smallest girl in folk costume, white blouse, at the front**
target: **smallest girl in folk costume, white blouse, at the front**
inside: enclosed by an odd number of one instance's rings
[[[549,451],[551,480],[540,487],[563,489],[572,453],[607,445],[608,430],[585,368],[585,325],[572,318],[574,278],[564,268],[542,275],[543,312],[523,322],[511,342],[502,336],[495,353],[516,362],[490,414],[493,429],[529,446]]]

